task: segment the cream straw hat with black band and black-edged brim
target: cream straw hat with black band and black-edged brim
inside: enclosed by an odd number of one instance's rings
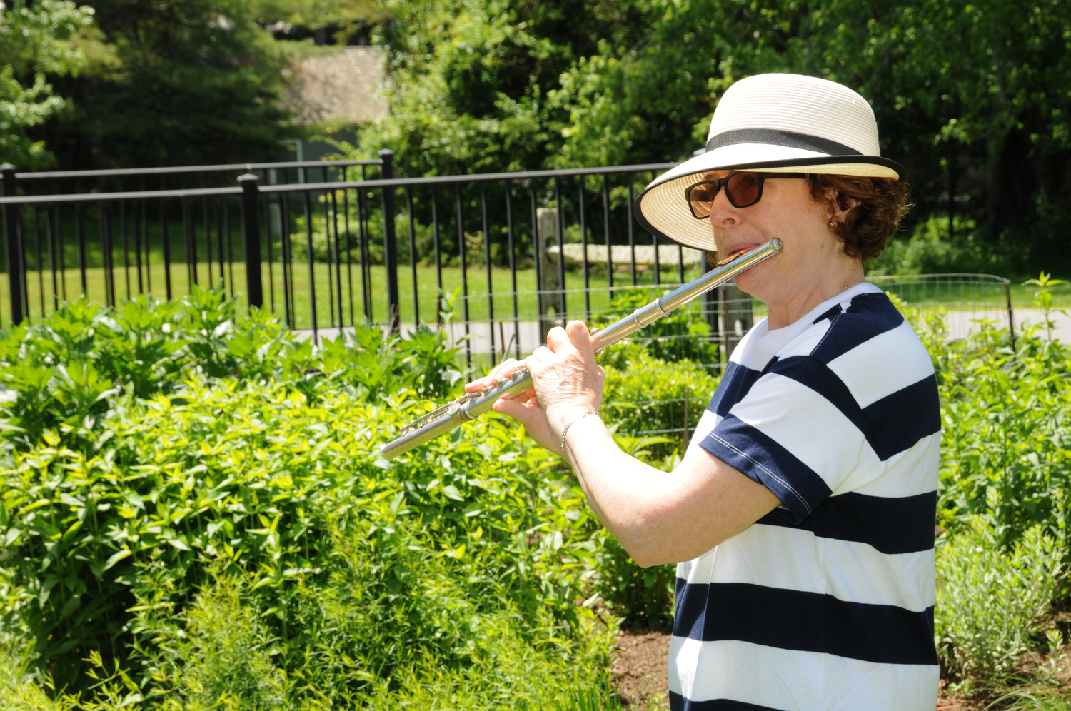
[[[636,220],[659,237],[713,251],[710,221],[696,220],[684,199],[684,190],[698,182],[696,173],[710,170],[896,180],[904,172],[881,157],[865,99],[835,81],[801,74],[758,74],[729,87],[710,121],[706,152],[648,185],[636,198]]]

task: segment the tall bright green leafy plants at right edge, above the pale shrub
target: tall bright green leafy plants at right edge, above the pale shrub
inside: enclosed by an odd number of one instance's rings
[[[1071,382],[1067,347],[986,327],[942,358],[938,519],[992,516],[1000,541],[1068,524]]]

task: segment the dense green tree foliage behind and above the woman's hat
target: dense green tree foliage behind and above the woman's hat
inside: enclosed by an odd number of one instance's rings
[[[914,220],[978,268],[1071,266],[1068,0],[384,5],[392,108],[362,140],[410,175],[683,160],[734,81],[797,72],[871,101]]]

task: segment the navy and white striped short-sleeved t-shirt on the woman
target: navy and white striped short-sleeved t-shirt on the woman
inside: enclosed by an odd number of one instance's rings
[[[740,342],[695,432],[781,505],[677,566],[669,700],[692,711],[933,711],[933,363],[861,284]]]

